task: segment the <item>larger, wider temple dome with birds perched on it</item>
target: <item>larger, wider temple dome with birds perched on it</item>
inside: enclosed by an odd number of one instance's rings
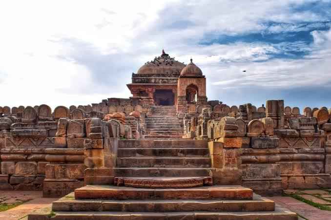
[[[178,62],[174,58],[165,54],[162,50],[162,55],[155,57],[154,60],[146,62],[144,66],[139,68],[138,74],[177,74],[179,75],[186,65]]]

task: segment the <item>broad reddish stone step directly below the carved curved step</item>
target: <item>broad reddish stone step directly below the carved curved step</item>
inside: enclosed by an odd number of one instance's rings
[[[86,185],[75,189],[76,199],[115,200],[251,200],[253,190],[243,186],[146,189],[125,186]]]

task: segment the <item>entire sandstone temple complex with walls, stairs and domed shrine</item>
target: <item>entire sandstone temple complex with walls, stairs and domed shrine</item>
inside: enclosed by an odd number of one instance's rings
[[[0,190],[62,197],[29,220],[296,220],[263,196],[331,187],[331,110],[208,101],[164,51],[91,105],[0,107]],[[5,104],[5,103],[4,103]]]

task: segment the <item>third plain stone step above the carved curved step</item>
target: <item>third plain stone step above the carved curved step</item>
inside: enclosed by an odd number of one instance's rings
[[[208,148],[119,148],[118,157],[209,157]]]

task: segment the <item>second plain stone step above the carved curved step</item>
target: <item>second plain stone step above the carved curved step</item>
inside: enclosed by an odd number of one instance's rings
[[[210,167],[207,157],[121,157],[117,167]]]

